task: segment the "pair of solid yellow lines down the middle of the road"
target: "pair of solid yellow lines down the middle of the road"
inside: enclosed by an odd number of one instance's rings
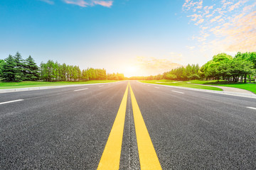
[[[114,120],[110,136],[102,153],[97,170],[115,170],[119,169],[120,156],[122,150],[122,137],[124,132],[124,120],[127,107],[128,88],[132,98],[132,111],[134,115],[134,125],[137,136],[137,145],[139,151],[139,163],[141,169],[161,169],[156,151],[149,137],[149,132],[142,118],[138,103],[132,91],[132,86],[128,83],[124,92],[121,105]]]

